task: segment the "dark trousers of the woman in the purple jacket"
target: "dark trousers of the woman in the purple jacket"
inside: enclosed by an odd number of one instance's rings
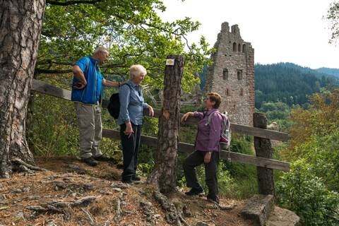
[[[189,188],[198,188],[200,184],[196,177],[196,167],[203,164],[203,158],[205,157],[206,152],[196,150],[194,153],[191,153],[189,157],[186,157],[184,160],[184,174],[186,177],[186,184]],[[208,186],[208,196],[217,196],[218,195],[218,179],[217,179],[217,169],[219,162],[219,153],[212,152],[210,157],[210,162],[205,164],[205,175],[206,175],[206,184]]]

